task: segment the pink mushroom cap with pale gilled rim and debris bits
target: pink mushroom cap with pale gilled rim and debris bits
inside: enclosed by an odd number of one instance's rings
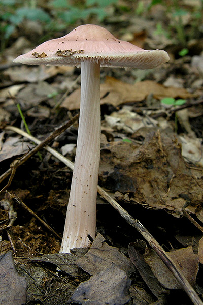
[[[58,53],[57,53],[58,51]],[[67,55],[60,55],[66,52]],[[78,52],[77,52],[78,51]],[[35,57],[34,54],[42,54]],[[57,54],[58,55],[57,55]],[[100,63],[102,67],[151,69],[169,60],[163,50],[143,50],[127,41],[115,38],[104,27],[85,24],[69,34],[48,40],[13,61],[28,65],[66,65],[80,67],[81,62]]]

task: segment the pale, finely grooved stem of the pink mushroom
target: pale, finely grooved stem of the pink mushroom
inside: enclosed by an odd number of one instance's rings
[[[100,64],[81,63],[81,105],[76,158],[60,252],[88,247],[95,237],[100,159]]]

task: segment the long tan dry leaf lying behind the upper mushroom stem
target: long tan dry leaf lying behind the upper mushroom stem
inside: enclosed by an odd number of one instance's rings
[[[117,107],[124,103],[139,102],[144,100],[149,94],[157,99],[164,97],[186,99],[193,95],[184,88],[165,87],[152,80],[137,82],[133,85],[107,77],[105,83],[100,85],[101,104],[111,104]],[[75,90],[68,96],[61,107],[69,110],[80,108],[80,89]]]

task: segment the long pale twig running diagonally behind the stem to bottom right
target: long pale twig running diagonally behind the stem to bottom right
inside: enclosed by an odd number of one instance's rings
[[[22,134],[22,131],[20,129],[18,130],[20,134]],[[25,132],[23,132],[23,136],[26,138],[32,140],[33,142],[39,142],[36,138],[29,136]],[[72,163],[70,160],[63,157],[61,154],[59,154],[57,151],[50,147],[45,147],[46,150],[48,150],[51,154],[58,158],[60,161],[62,161],[65,165],[70,167],[72,170],[74,168],[74,163]],[[159,243],[156,241],[156,239],[145,229],[145,227],[139,222],[139,220],[134,219],[128,212],[122,208],[111,196],[105,192],[101,187],[97,186],[97,192],[106,199],[118,212],[119,214],[125,219],[125,221],[130,224],[133,228],[136,228],[142,236],[148,241],[149,245],[154,249],[154,251],[158,254],[160,259],[164,262],[164,264],[168,267],[168,269],[171,270],[174,277],[177,279],[179,284],[181,285],[182,289],[185,290],[191,301],[194,305],[203,305],[201,299],[195,292],[195,290],[192,288],[188,280],[183,275],[182,271],[179,270],[174,263],[174,261],[171,259],[171,257],[162,249],[162,247],[159,245]]]

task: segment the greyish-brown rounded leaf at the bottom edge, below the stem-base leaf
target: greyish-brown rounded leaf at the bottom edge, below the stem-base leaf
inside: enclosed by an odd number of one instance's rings
[[[70,298],[69,303],[80,305],[122,305],[129,301],[131,280],[115,265],[92,276],[81,283]]]

